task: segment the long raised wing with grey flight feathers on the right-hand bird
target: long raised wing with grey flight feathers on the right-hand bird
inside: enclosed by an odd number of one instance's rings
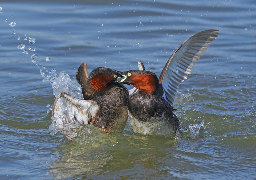
[[[173,104],[173,97],[181,82],[187,79],[194,64],[203,55],[203,52],[216,39],[218,30],[205,30],[188,38],[173,52],[165,64],[159,77],[159,84],[163,87],[163,97]]]

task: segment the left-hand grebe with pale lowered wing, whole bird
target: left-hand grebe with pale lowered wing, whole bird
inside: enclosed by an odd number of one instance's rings
[[[129,93],[124,85],[115,82],[120,77],[117,71],[103,67],[94,69],[89,75],[87,64],[82,63],[76,79],[84,99],[60,93],[53,104],[56,124],[91,124],[103,133],[121,133],[128,118]],[[68,134],[63,135],[72,140]]]

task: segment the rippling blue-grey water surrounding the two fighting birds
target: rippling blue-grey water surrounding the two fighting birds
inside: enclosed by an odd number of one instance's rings
[[[2,0],[0,179],[255,179],[255,5]],[[49,129],[56,91],[79,96],[82,62],[123,71],[140,60],[159,76],[182,42],[207,29],[219,36],[178,89],[176,138],[135,134],[129,122],[123,133],[86,126],[74,141]]]

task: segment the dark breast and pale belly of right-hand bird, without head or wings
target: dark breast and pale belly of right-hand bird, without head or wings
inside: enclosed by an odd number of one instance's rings
[[[179,121],[172,106],[158,94],[138,91],[128,103],[128,115],[132,129],[140,134],[175,134]]]

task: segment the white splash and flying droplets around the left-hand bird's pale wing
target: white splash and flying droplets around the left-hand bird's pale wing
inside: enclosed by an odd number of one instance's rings
[[[0,9],[1,11],[1,9]],[[5,20],[7,22],[7,19]],[[10,23],[11,27],[15,27],[16,23],[15,21],[12,21]],[[103,24],[102,24],[103,26]],[[16,34],[16,31],[13,30],[12,31],[13,34]],[[24,41],[27,40],[27,34],[25,34],[25,38]],[[20,37],[16,37],[16,40],[21,40]],[[35,44],[35,38],[30,38],[29,37],[29,44]],[[19,43],[19,45],[17,46],[17,48],[19,50],[22,50],[23,54],[29,55],[31,52],[33,53],[33,55],[30,56],[30,61],[33,62],[38,68],[39,68],[39,73],[41,74],[42,78],[43,78],[43,82],[50,82],[50,85],[52,86],[53,89],[53,95],[55,97],[57,97],[62,91],[64,91],[65,93],[68,93],[76,98],[80,98],[83,99],[83,95],[82,95],[82,91],[80,88],[80,85],[75,84],[75,82],[73,82],[71,80],[71,78],[69,77],[69,75],[67,73],[65,73],[64,71],[60,72],[59,77],[56,74],[56,70],[52,69],[51,71],[46,70],[46,67],[41,65],[42,68],[38,65],[38,55],[35,54],[36,52],[36,48],[31,48],[30,46],[28,46],[27,50],[25,49],[26,45],[25,43]],[[70,49],[70,48],[69,48]],[[50,60],[49,57],[45,58],[45,61],[48,62]],[[49,73],[48,75],[46,73]],[[50,110],[52,110],[52,106],[47,105],[47,107],[49,108],[47,113],[50,112]],[[64,109],[65,110],[65,109]],[[52,117],[52,124],[49,126],[49,130],[50,130],[50,134],[56,134],[57,132],[61,132],[61,133],[65,133],[68,134],[68,136],[70,137],[76,137],[78,136],[78,134],[80,133],[91,133],[91,129],[95,129],[95,127],[91,127],[91,126],[81,126],[80,124],[65,124],[65,125],[58,125],[55,123],[54,121],[54,117]]]

